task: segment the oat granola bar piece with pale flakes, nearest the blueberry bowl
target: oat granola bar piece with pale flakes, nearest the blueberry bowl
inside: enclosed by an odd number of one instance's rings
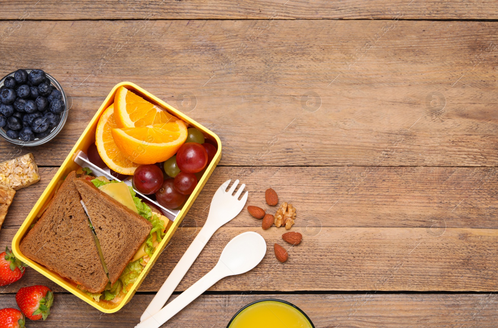
[[[0,163],[0,184],[19,190],[39,180],[38,166],[31,153]]]

